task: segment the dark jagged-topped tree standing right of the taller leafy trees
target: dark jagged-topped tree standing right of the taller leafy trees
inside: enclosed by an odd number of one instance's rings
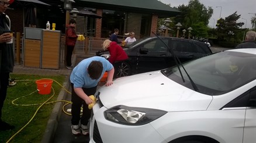
[[[227,16],[225,19],[217,20],[217,34],[220,41],[239,41],[239,34],[243,29],[241,27],[244,25],[243,22],[237,23],[241,15],[237,15],[234,12],[232,15]]]

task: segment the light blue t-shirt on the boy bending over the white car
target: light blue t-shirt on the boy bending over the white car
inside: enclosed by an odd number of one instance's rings
[[[101,77],[98,80],[92,80],[92,78],[89,77],[87,70],[90,63],[94,60],[101,62],[103,66]],[[113,69],[113,65],[108,60],[100,56],[93,56],[82,60],[77,66],[75,66],[70,75],[70,81],[74,84],[74,88],[96,87],[99,80],[103,77],[103,74],[111,69]]]

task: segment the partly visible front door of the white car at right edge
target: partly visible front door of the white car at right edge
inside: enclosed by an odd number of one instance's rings
[[[250,91],[250,99],[245,114],[243,143],[256,142],[256,87]]]

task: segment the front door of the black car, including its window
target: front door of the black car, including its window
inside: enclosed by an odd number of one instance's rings
[[[169,44],[167,38],[163,39],[165,44]],[[168,67],[169,52],[160,39],[155,38],[141,44],[137,51],[137,73],[151,72]]]

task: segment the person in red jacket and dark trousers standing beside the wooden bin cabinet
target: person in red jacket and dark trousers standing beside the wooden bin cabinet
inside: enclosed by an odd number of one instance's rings
[[[71,19],[70,24],[67,26],[66,30],[66,45],[67,45],[67,55],[66,55],[66,67],[67,69],[73,69],[72,67],[72,53],[75,47],[75,42],[77,42],[78,35],[75,34],[75,20]]]

